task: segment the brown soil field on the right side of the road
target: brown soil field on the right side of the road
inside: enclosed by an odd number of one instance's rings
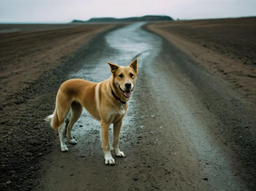
[[[255,102],[256,17],[150,23],[147,29]]]

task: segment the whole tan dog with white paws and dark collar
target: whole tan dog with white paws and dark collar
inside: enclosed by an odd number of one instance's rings
[[[59,129],[61,151],[68,151],[64,142],[64,120],[71,108],[71,118],[67,125],[67,140],[71,144],[76,141],[71,135],[75,122],[79,119],[84,107],[101,124],[102,148],[105,164],[115,164],[110,153],[109,126],[113,126],[113,149],[116,156],[126,155],[119,150],[119,133],[123,118],[128,110],[128,101],[135,87],[138,73],[137,59],[129,66],[118,66],[108,62],[112,76],[99,83],[82,79],[70,79],[61,84],[56,97],[56,106],[52,115],[46,117],[51,121],[54,130]]]

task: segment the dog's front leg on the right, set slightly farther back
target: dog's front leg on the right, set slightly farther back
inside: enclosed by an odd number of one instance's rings
[[[125,157],[126,155],[119,150],[118,142],[119,142],[119,135],[122,127],[123,119],[114,123],[113,126],[113,149],[116,156]]]

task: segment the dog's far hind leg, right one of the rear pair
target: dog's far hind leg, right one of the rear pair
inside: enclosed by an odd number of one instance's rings
[[[82,105],[76,101],[72,102],[71,104],[71,118],[69,119],[69,123],[67,126],[67,140],[71,144],[76,144],[76,140],[72,137],[71,131],[73,128],[73,125],[77,122],[79,119],[81,113],[83,111]]]

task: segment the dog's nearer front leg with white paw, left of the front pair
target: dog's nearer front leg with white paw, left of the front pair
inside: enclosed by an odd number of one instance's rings
[[[105,123],[104,121],[100,122],[101,124],[101,140],[102,148],[104,152],[105,164],[114,165],[115,160],[110,153],[110,144],[109,144],[109,126],[110,124]]]

